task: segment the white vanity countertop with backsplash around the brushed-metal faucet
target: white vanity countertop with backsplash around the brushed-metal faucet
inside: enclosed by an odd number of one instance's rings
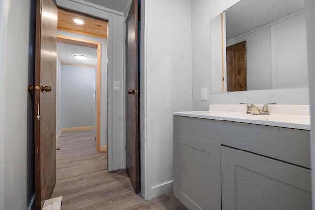
[[[261,108],[261,105],[257,106]],[[309,105],[269,105],[268,107],[270,115],[246,114],[246,105],[238,104],[210,105],[209,111],[173,112],[173,115],[310,130]]]

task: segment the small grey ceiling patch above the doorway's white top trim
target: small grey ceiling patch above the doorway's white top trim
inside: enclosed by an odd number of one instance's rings
[[[109,9],[126,13],[131,0],[83,0]]]

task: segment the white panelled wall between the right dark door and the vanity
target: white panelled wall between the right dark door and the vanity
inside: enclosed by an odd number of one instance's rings
[[[192,109],[191,0],[141,4],[141,193],[150,199],[173,189],[172,112]]]

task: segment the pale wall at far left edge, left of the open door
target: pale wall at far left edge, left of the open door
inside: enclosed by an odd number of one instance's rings
[[[30,0],[0,0],[0,5],[0,210],[22,210],[27,209]]]

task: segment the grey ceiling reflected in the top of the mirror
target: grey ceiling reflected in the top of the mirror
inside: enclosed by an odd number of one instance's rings
[[[304,0],[241,0],[226,11],[226,40],[304,8]]]

